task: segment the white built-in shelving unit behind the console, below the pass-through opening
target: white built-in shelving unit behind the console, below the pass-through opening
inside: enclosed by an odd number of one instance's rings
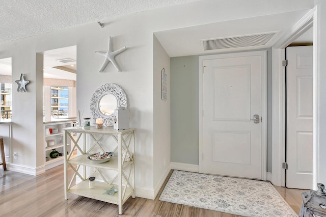
[[[45,170],[56,167],[58,165],[63,164],[63,128],[71,127],[72,121],[55,121],[55,122],[46,122],[44,125],[44,165]],[[69,146],[70,142],[68,140],[67,145]],[[56,149],[60,153],[61,156],[56,158],[51,158],[50,153]],[[70,151],[70,149],[68,148]]]

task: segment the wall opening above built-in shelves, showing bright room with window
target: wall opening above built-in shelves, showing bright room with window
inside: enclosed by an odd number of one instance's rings
[[[76,46],[43,54],[43,120],[76,117]]]

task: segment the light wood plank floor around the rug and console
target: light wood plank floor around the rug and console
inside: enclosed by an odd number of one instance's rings
[[[71,177],[72,170],[68,173]],[[155,200],[130,197],[123,206],[123,215],[119,215],[118,206],[114,204],[72,194],[69,194],[69,200],[65,200],[63,180],[63,165],[38,176],[0,169],[0,216],[238,216],[159,201],[164,186]],[[302,202],[301,193],[306,190],[276,189],[298,213]]]

